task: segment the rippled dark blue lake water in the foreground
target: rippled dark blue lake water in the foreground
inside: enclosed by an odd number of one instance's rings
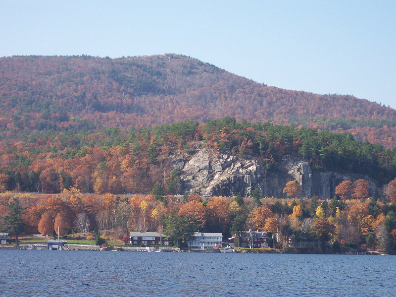
[[[0,250],[0,296],[396,296],[396,256]]]

